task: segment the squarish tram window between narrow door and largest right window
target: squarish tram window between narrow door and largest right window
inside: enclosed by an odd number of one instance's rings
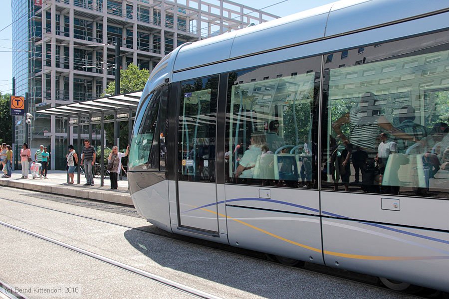
[[[315,57],[229,74],[226,183],[317,188],[319,68]]]

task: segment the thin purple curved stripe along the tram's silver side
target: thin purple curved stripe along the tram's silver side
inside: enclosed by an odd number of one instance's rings
[[[216,204],[222,204],[222,203],[228,203],[228,202],[235,202],[235,201],[266,201],[266,202],[274,202],[274,203],[279,203],[279,204],[284,204],[284,205],[289,205],[289,206],[293,206],[293,207],[297,207],[297,208],[301,208],[301,209],[305,209],[305,210],[309,210],[309,211],[313,211],[313,212],[319,212],[319,210],[314,209],[314,208],[310,208],[310,207],[306,207],[303,205],[298,205],[298,204],[294,204],[294,203],[289,203],[289,202],[285,202],[285,201],[280,201],[280,200],[274,200],[274,199],[263,199],[263,198],[234,198],[234,199],[229,199],[229,200],[223,200],[223,201],[219,201],[217,203],[210,203],[201,207],[197,207],[194,209],[190,209],[187,211],[184,211],[183,213],[187,213],[187,212],[191,212],[194,210],[198,210],[198,209],[202,209],[202,208],[206,208],[206,207],[210,207]],[[343,219],[350,219],[352,220],[352,218],[350,217],[346,217],[343,215],[339,215],[339,214],[335,214],[335,213],[331,213],[331,212],[326,212],[326,211],[322,211],[323,214],[328,215],[328,216],[332,216],[332,217],[339,217],[339,218],[343,218]],[[416,233],[411,233],[408,231],[404,231],[404,230],[400,230],[397,228],[391,228],[385,225],[381,225],[381,224],[375,224],[375,223],[369,223],[369,222],[364,222],[364,221],[358,221],[361,224],[365,224],[365,225],[369,225],[369,226],[374,226],[377,228],[381,228],[381,229],[385,229],[385,230],[389,230],[389,231],[393,231],[393,232],[397,232],[397,233],[402,233],[402,234],[406,234],[409,236],[413,236],[413,237],[417,237],[417,238],[422,238],[422,239],[427,239],[430,241],[435,241],[435,242],[440,242],[443,244],[449,244],[449,241],[447,240],[442,240],[442,239],[438,239],[438,238],[433,238],[433,237],[429,237],[429,236],[425,236],[425,235],[420,235],[420,234],[416,234]]]

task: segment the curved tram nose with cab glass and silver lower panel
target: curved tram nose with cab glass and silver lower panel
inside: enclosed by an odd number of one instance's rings
[[[167,159],[167,97],[170,57],[151,73],[134,120],[128,162],[129,190],[138,213],[152,224],[171,232]]]

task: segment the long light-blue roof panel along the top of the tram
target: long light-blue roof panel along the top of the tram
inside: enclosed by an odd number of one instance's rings
[[[443,0],[427,0],[425,5],[422,0],[341,0],[181,46],[171,58],[176,59],[173,71],[337,37],[447,7]]]

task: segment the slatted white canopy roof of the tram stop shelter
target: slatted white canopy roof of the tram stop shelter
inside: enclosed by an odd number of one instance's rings
[[[142,91],[135,91],[90,101],[75,102],[43,110],[36,110],[36,113],[60,117],[97,116],[101,113],[106,116],[113,115],[116,112],[127,113],[130,109],[132,111],[137,110],[141,96]]]

